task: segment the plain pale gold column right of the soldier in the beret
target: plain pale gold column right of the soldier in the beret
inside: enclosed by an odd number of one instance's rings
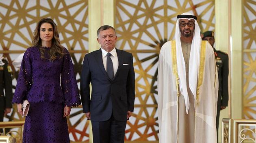
[[[242,0],[231,0],[231,118],[242,118],[243,80],[242,80]]]

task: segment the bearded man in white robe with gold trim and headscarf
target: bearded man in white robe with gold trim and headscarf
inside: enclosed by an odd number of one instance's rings
[[[194,15],[177,18],[175,40],[166,42],[159,54],[159,143],[216,143],[218,75],[213,48],[202,42]]]

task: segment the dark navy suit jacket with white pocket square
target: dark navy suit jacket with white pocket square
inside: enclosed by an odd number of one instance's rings
[[[111,117],[126,121],[127,111],[133,112],[135,100],[135,73],[132,54],[116,49],[118,69],[113,80],[108,78],[102,61],[102,52],[85,55],[81,73],[81,101],[83,112],[91,112],[92,122]],[[90,87],[91,83],[91,99]]]

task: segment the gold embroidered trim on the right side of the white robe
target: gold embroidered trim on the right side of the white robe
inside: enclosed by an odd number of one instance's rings
[[[204,77],[204,63],[205,63],[205,51],[206,51],[206,41],[201,43],[201,52],[200,52],[200,66],[199,66],[199,75],[197,81],[197,90],[196,90],[196,104],[199,105],[199,89],[203,82]]]

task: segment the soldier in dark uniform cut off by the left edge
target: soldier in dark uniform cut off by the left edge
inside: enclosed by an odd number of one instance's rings
[[[10,67],[8,66],[7,60],[0,56],[0,122],[4,120],[6,114],[11,112],[12,99],[13,91]]]

